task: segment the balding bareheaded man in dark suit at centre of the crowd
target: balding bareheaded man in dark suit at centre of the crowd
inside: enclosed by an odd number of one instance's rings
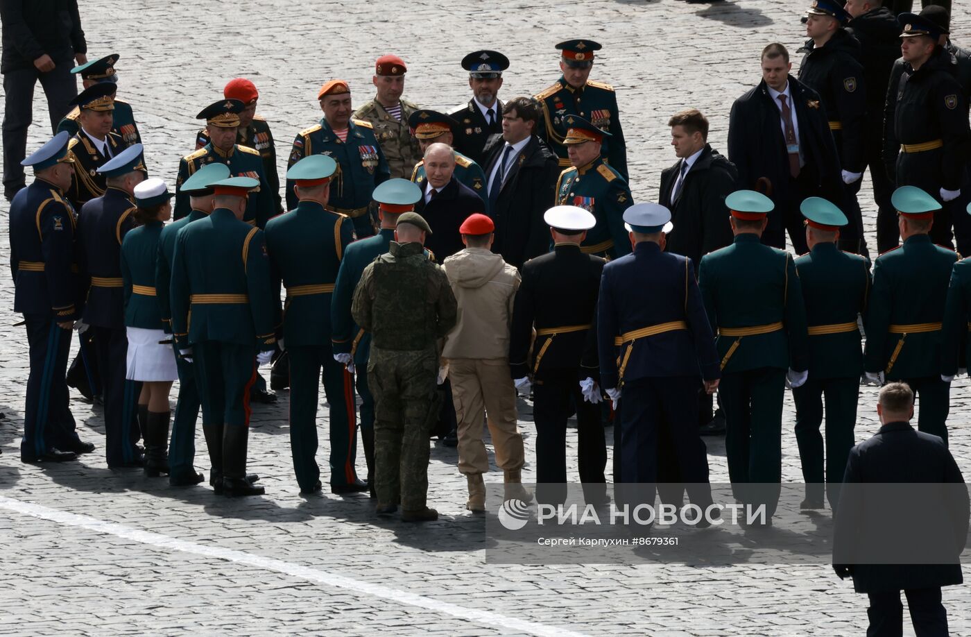
[[[424,169],[424,192],[415,212],[432,229],[425,248],[441,263],[465,248],[458,227],[474,213],[485,214],[485,202],[475,190],[455,179],[455,152],[445,144],[425,149]]]

